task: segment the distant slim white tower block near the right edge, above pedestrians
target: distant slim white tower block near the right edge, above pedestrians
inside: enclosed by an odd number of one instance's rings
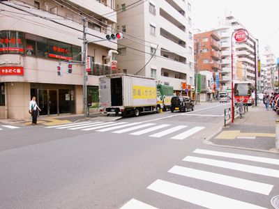
[[[276,70],[276,56],[271,51],[271,47],[264,47],[264,56],[266,57],[266,92],[274,91],[274,82],[278,80],[278,71]]]

